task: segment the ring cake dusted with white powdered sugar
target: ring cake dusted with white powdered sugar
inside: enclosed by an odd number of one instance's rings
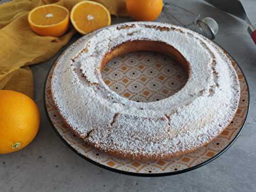
[[[154,51],[178,61],[188,74],[176,94],[155,102],[119,96],[102,80],[111,59]],[[216,138],[238,109],[240,86],[231,61],[198,33],[169,24],[138,22],[104,28],[70,60],[57,62],[54,104],[73,133],[103,152],[132,159],[168,159]]]

